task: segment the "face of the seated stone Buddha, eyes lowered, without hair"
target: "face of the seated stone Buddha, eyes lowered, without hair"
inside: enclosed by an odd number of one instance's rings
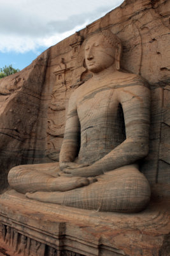
[[[91,72],[101,72],[115,62],[115,49],[102,35],[94,35],[85,45],[85,62]]]

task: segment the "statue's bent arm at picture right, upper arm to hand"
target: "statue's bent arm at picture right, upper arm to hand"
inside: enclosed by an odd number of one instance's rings
[[[118,100],[124,111],[125,141],[91,166],[71,172],[73,176],[101,175],[132,164],[148,154],[150,90],[144,84],[120,88]]]

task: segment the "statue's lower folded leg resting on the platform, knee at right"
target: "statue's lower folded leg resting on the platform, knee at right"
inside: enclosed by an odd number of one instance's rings
[[[150,200],[150,186],[136,166],[124,166],[97,177],[97,182],[66,192],[27,193],[27,198],[81,209],[139,212]]]

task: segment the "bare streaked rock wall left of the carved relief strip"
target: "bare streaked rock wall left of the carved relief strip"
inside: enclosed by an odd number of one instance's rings
[[[43,131],[39,132],[37,120],[48,59],[49,50],[29,67],[0,82],[1,189],[8,185],[8,170],[12,166],[34,163],[45,156],[43,141],[41,140],[41,147],[37,148],[35,145],[43,136]],[[46,125],[43,126],[46,133]]]

